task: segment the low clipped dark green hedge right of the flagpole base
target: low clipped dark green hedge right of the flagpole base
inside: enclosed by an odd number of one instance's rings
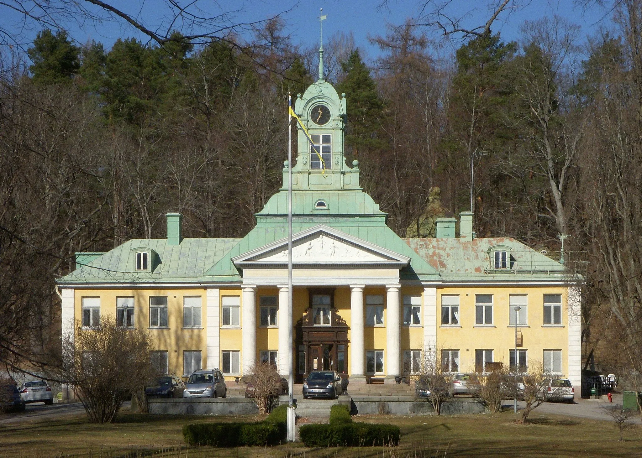
[[[399,428],[374,423],[339,421],[322,425],[302,425],[301,441],[307,447],[399,445]]]

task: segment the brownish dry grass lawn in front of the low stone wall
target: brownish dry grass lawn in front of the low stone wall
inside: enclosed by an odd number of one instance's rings
[[[620,432],[609,421],[532,414],[516,425],[512,412],[474,416],[356,416],[355,421],[394,423],[403,437],[395,448],[188,448],[181,429],[193,421],[259,420],[258,416],[154,416],[123,412],[117,423],[94,425],[84,416],[0,425],[2,457],[460,457],[638,456],[642,428]]]

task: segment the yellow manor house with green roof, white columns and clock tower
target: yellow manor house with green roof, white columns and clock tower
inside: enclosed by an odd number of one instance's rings
[[[440,352],[447,373],[537,360],[579,393],[576,277],[514,239],[477,238],[471,212],[458,236],[455,218],[438,219],[434,239],[396,235],[361,189],[358,161],[345,162],[345,94],[322,74],[294,107],[311,140],[299,128],[292,169],[295,380],[334,369],[351,383],[394,383]],[[58,280],[63,335],[110,314],[150,331],[165,373],[220,368],[234,380],[269,360],[286,375],[288,167],[243,239],[184,239],[182,216],[168,214],[165,239],[77,253]]]

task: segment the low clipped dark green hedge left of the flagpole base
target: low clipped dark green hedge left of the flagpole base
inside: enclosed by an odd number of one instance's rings
[[[279,445],[285,425],[272,421],[259,423],[192,423],[183,427],[189,445],[238,447],[243,445]]]

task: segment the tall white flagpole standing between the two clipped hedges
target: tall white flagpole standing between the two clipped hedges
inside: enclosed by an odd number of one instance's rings
[[[292,95],[288,94],[288,441],[295,440],[294,375],[292,364]]]

